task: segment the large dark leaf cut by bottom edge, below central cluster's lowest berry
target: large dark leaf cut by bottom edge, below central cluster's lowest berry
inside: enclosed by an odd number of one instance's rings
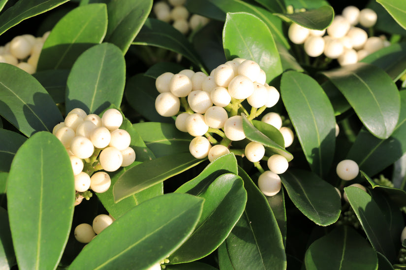
[[[286,255],[278,222],[248,174],[239,168],[239,175],[248,199],[244,214],[225,240],[233,268],[284,270]]]

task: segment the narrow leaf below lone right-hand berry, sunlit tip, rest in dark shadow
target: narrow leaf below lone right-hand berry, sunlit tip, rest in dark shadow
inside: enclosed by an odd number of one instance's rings
[[[393,263],[396,259],[395,248],[388,223],[378,205],[362,189],[346,187],[344,191],[372,246]]]

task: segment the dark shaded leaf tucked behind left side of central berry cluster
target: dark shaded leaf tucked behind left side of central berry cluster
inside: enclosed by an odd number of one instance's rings
[[[156,112],[155,100],[159,95],[155,79],[137,74],[125,83],[125,99],[134,110],[152,122],[174,123],[171,117],[163,117]]]

